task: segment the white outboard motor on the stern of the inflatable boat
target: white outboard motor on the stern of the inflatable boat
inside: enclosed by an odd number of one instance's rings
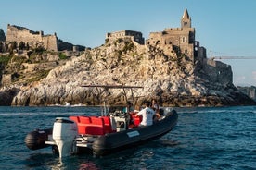
[[[53,128],[53,140],[55,141],[59,157],[65,157],[73,152],[73,145],[76,145],[77,125],[69,118],[57,117]],[[76,147],[76,146],[75,146]]]

